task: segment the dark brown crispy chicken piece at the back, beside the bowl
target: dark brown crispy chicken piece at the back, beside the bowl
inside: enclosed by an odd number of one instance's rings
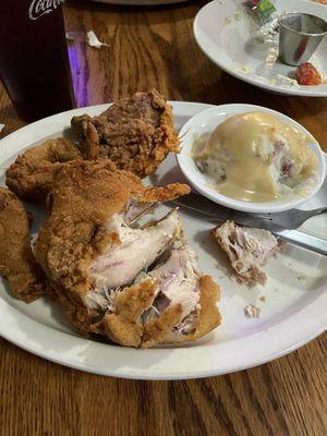
[[[74,117],[71,124],[86,159],[108,157],[141,178],[179,153],[171,107],[155,89],[123,98],[99,117]]]

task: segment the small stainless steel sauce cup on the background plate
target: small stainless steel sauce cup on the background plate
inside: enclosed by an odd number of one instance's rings
[[[283,14],[279,19],[279,59],[289,65],[307,62],[326,34],[327,23],[318,16]]]

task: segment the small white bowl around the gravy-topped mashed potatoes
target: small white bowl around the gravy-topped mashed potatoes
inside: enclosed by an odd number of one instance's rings
[[[316,154],[318,158],[318,169],[316,173],[317,183],[314,185],[311,184],[306,196],[289,194],[271,202],[262,203],[234,199],[220,194],[218,191],[211,187],[208,184],[206,177],[196,167],[194,159],[191,156],[194,140],[201,135],[209,134],[217,128],[217,125],[226,121],[231,116],[252,111],[268,112],[283,122],[293,124],[296,129],[305,132],[308,136],[312,137],[312,143],[308,144],[308,147]],[[182,150],[180,155],[177,155],[177,160],[181,171],[189,180],[191,185],[197,192],[211,199],[213,202],[218,203],[222,206],[230,207],[232,209],[249,213],[275,213],[292,209],[316,194],[316,192],[319,191],[322,184],[324,183],[326,177],[324,154],[320,149],[319,144],[311,135],[311,133],[291,118],[280,112],[277,112],[276,110],[267,109],[262,106],[241,104],[216,106],[191,118],[191,120],[189,120],[180,131],[180,137]]]

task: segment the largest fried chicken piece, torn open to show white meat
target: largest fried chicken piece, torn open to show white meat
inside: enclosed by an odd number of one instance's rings
[[[108,159],[62,167],[36,258],[82,332],[148,348],[195,340],[219,325],[219,287],[197,270],[177,210],[137,221],[154,203],[189,192],[179,183],[145,187]]]

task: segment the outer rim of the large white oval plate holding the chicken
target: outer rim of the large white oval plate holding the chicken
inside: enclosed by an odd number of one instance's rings
[[[175,116],[180,116],[180,117],[185,117],[185,118],[191,118],[192,116],[201,112],[202,110],[206,110],[210,107],[215,107],[215,105],[206,105],[206,104],[198,104],[198,102],[182,102],[182,101],[170,101],[170,104],[172,104],[173,106],[173,111],[175,112]],[[15,143],[20,136],[25,137],[25,135],[28,133],[28,131],[34,132],[34,134],[37,136],[41,136],[45,137],[44,134],[37,133],[37,129],[40,126],[43,129],[47,128],[51,134],[55,134],[55,129],[60,126],[60,130],[62,130],[65,125],[66,125],[66,120],[69,119],[69,117],[71,117],[73,113],[81,113],[87,110],[94,110],[94,111],[100,111],[101,109],[105,109],[106,107],[108,107],[108,105],[97,105],[97,106],[90,106],[90,107],[86,107],[86,108],[78,108],[78,109],[73,109],[66,112],[61,112],[59,114],[55,114],[51,117],[48,117],[46,119],[36,121],[33,124],[29,124],[27,126],[24,126],[13,133],[11,133],[10,135],[5,136],[4,138],[1,140],[1,145],[2,147],[0,147],[1,150],[7,148],[7,144],[8,144],[8,148],[10,149],[10,145]],[[27,135],[28,136],[28,135]],[[35,138],[33,142],[39,141],[37,138]],[[28,144],[26,145],[26,143],[24,143],[25,146],[28,146]],[[22,147],[23,149],[23,147]],[[4,158],[3,158],[4,155]],[[14,153],[11,149],[11,152],[9,150],[9,153],[0,153],[0,159],[3,162],[5,160],[5,156],[8,158],[8,155],[13,156]],[[1,310],[1,317],[0,317],[0,335],[9,340],[10,342],[14,343],[15,346],[32,352],[35,355],[38,355],[43,359],[52,361],[55,363],[59,363],[61,365],[64,366],[69,366],[72,368],[76,368],[76,370],[81,370],[81,371],[86,371],[88,373],[94,373],[94,374],[99,374],[99,375],[106,375],[106,376],[113,376],[113,377],[119,377],[119,378],[132,378],[132,379],[147,379],[147,380],[155,380],[155,379],[161,379],[161,380],[169,380],[169,379],[190,379],[190,378],[202,378],[202,377],[209,377],[209,376],[216,376],[216,375],[222,375],[222,374],[229,374],[231,372],[235,372],[235,371],[242,371],[249,367],[253,367],[253,366],[257,366],[261,365],[263,363],[267,363],[271,360],[278,359],[284,354],[288,354],[291,351],[294,351],[295,349],[302,347],[303,344],[307,343],[308,341],[311,341],[312,339],[314,339],[315,337],[317,337],[319,334],[322,334],[323,331],[326,330],[327,326],[326,326],[326,319],[325,317],[320,316],[316,316],[316,312],[317,311],[322,311],[322,307],[327,304],[327,282],[324,283],[323,288],[317,289],[317,296],[315,299],[313,299],[312,301],[310,301],[304,307],[296,310],[294,314],[292,314],[291,316],[288,316],[287,318],[283,318],[281,322],[268,327],[267,329],[262,329],[258,332],[256,332],[255,335],[249,335],[245,336],[243,338],[235,338],[232,341],[226,341],[222,343],[210,343],[208,342],[208,347],[205,346],[193,346],[193,347],[175,347],[175,348],[169,348],[168,350],[171,352],[171,355],[173,354],[172,359],[177,359],[178,356],[185,356],[185,354],[187,355],[187,358],[192,354],[193,359],[194,355],[201,358],[204,347],[206,347],[206,358],[208,356],[208,359],[210,359],[210,362],[208,362],[207,366],[210,366],[210,368],[199,368],[199,370],[185,370],[183,368],[183,371],[179,371],[178,373],[173,371],[173,368],[171,366],[169,366],[169,368],[165,368],[165,362],[164,362],[164,366],[161,363],[161,360],[159,359],[159,362],[157,363],[156,361],[156,365],[155,367],[150,367],[149,371],[146,370],[146,372],[141,371],[140,367],[135,366],[133,367],[125,367],[125,362],[122,362],[122,366],[120,366],[119,368],[110,368],[110,365],[108,365],[107,367],[96,367],[89,363],[85,363],[83,361],[81,361],[80,354],[78,352],[81,352],[81,350],[83,351],[84,348],[88,348],[88,346],[90,347],[89,349],[92,350],[93,348],[98,350],[98,344],[97,342],[94,342],[89,339],[85,339],[83,337],[75,337],[73,335],[69,335],[66,332],[63,332],[61,330],[57,330],[52,327],[49,327],[45,324],[41,324],[37,320],[35,320],[34,318],[25,315],[23,312],[21,312],[19,308],[15,308],[13,305],[11,305],[8,301],[5,301],[3,298],[0,298],[0,310]],[[293,322],[294,320],[301,320],[303,319],[303,316],[307,316],[307,315],[312,315],[308,316],[308,324],[305,323],[300,323],[299,324],[299,328],[295,329],[294,331],[291,331],[291,338],[288,337],[288,335],[283,335],[281,338],[281,341],[283,342],[283,346],[281,346],[278,341],[278,343],[274,344],[274,349],[272,351],[268,351],[268,350],[263,350],[259,349],[259,352],[262,353],[262,355],[258,355],[256,353],[255,343],[252,343],[252,341],[254,340],[254,336],[255,338],[264,338],[266,342],[268,337],[267,335],[271,336],[274,335],[274,338],[276,338],[276,335],[278,334],[278,330],[281,328],[281,326],[293,326]],[[17,318],[20,317],[20,320],[23,319],[24,322],[26,322],[26,324],[24,325],[24,329],[22,327],[17,327]],[[70,344],[75,344],[72,346],[71,349],[69,350],[69,356],[66,355],[66,353],[62,353],[61,351],[57,351],[52,350],[49,351],[47,350],[48,347],[48,342],[46,342],[46,344],[44,347],[46,347],[46,350],[44,350],[43,348],[40,349],[40,344],[34,340],[33,337],[27,337],[26,339],[26,332],[28,332],[28,330],[32,328],[35,328],[35,325],[37,325],[38,328],[38,332],[39,334],[45,334],[46,338],[49,337],[53,337],[53,338],[60,338],[64,343],[69,342]],[[12,330],[12,328],[14,328],[14,330]],[[292,328],[290,328],[290,330],[292,330]],[[293,329],[294,330],[294,329]],[[306,331],[305,334],[302,331]],[[288,329],[286,328],[286,331],[288,331]],[[244,363],[238,363],[238,364],[233,364],[233,366],[230,367],[225,367],[223,364],[221,364],[221,360],[223,361],[223,359],[226,359],[225,354],[217,354],[219,353],[219,350],[217,351],[217,348],[223,350],[223,349],[229,349],[232,348],[233,344],[232,342],[238,341],[238,343],[240,344],[242,342],[242,347],[243,344],[245,344],[246,342],[247,346],[251,347],[251,350],[249,351],[249,356],[246,358],[247,361]],[[240,342],[241,341],[241,342]],[[267,343],[264,343],[264,348],[268,348],[271,349],[271,344],[269,343],[269,347]],[[143,359],[145,358],[145,360],[147,358],[152,358],[154,354],[155,355],[162,355],[162,354],[168,354],[168,361],[169,361],[169,353],[166,352],[166,349],[152,349],[152,350],[134,350],[134,349],[124,349],[124,348],[120,348],[120,347],[116,347],[118,351],[119,355],[134,355],[134,358],[138,359]],[[101,348],[99,349],[101,350]],[[113,356],[113,354],[116,354],[116,352],[112,353],[113,347],[111,346],[105,346],[105,350],[106,350],[106,355]],[[185,351],[186,350],[186,351]],[[194,350],[193,353],[190,352],[190,350]],[[254,351],[255,350],[255,351]],[[76,355],[75,355],[76,353]],[[251,354],[254,353],[254,354]],[[140,358],[141,356],[141,358]],[[217,360],[216,360],[217,358]],[[221,358],[221,360],[219,360],[219,358]],[[77,360],[76,360],[77,359]],[[80,359],[80,361],[78,361]],[[230,359],[234,359],[234,356],[230,356]],[[165,361],[165,359],[164,359]],[[167,361],[167,359],[166,359]],[[251,362],[250,362],[251,361]],[[169,364],[170,365],[170,364]],[[219,366],[220,365],[220,366]],[[225,365],[229,365],[228,363],[228,359],[227,359],[227,363]],[[165,368],[165,370],[164,370]]]

